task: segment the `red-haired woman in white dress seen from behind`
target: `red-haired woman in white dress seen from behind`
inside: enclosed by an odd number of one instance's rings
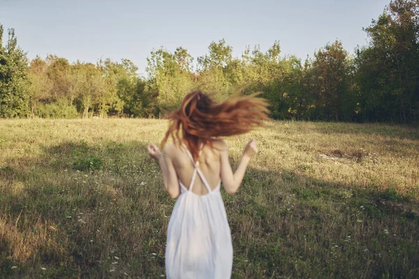
[[[258,149],[251,140],[233,174],[227,145],[218,137],[262,125],[267,105],[254,95],[216,103],[200,91],[189,93],[169,116],[161,146],[169,137],[173,144],[163,149],[164,156],[155,144],[147,146],[159,162],[165,190],[177,199],[168,225],[167,278],[230,278],[233,246],[220,184],[234,195]]]

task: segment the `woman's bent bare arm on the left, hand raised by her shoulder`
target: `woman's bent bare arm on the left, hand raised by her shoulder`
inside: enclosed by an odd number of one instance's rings
[[[154,158],[160,165],[161,174],[163,175],[164,190],[169,194],[172,199],[177,199],[180,195],[179,183],[177,182],[177,175],[175,167],[171,160],[171,152],[168,146],[164,148],[165,156],[161,153],[156,144],[147,146],[149,156]]]

